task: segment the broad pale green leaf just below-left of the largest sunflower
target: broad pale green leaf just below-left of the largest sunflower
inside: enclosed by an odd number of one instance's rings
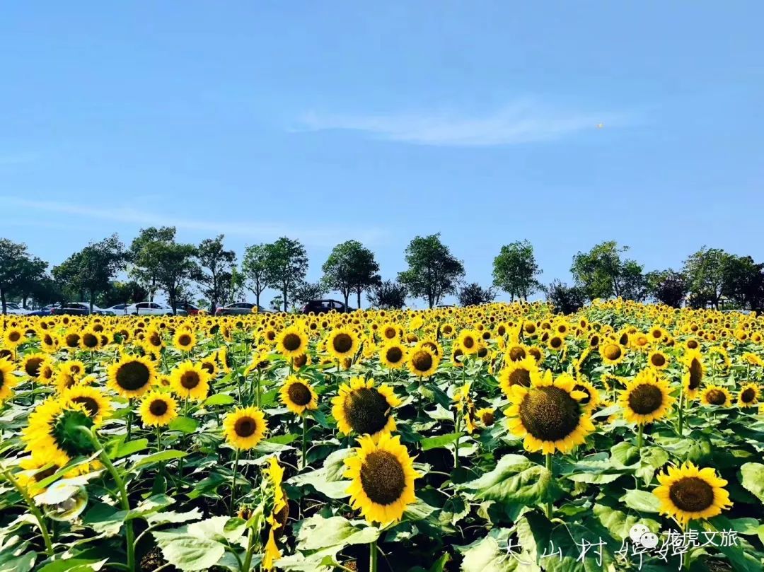
[[[494,470],[457,488],[473,490],[478,499],[524,505],[553,502],[563,493],[549,470],[513,454],[504,455]]]

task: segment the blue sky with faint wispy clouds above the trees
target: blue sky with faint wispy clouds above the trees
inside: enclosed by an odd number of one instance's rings
[[[646,270],[764,259],[759,2],[8,2],[0,236],[349,238],[403,270],[441,231],[490,283],[607,239]],[[597,124],[604,124],[597,128]],[[267,296],[267,300],[270,296]]]

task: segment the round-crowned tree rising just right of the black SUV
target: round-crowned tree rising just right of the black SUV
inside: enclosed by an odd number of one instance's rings
[[[335,246],[322,270],[322,280],[330,289],[342,294],[345,305],[348,305],[351,292],[356,293],[358,308],[361,308],[361,293],[380,281],[380,266],[374,260],[374,253],[358,241]]]

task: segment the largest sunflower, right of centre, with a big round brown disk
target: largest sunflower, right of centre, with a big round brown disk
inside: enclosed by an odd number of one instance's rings
[[[562,373],[552,379],[552,372],[538,376],[530,387],[519,383],[510,389],[509,428],[524,437],[527,451],[567,453],[584,443],[594,431],[591,415],[579,404],[587,395],[574,389],[575,379]]]

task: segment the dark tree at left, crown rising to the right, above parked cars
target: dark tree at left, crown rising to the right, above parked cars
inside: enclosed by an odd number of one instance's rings
[[[92,310],[95,296],[108,289],[109,282],[125,267],[125,258],[125,245],[112,234],[102,241],[88,244],[53,267],[53,276],[82,295],[87,294]]]

